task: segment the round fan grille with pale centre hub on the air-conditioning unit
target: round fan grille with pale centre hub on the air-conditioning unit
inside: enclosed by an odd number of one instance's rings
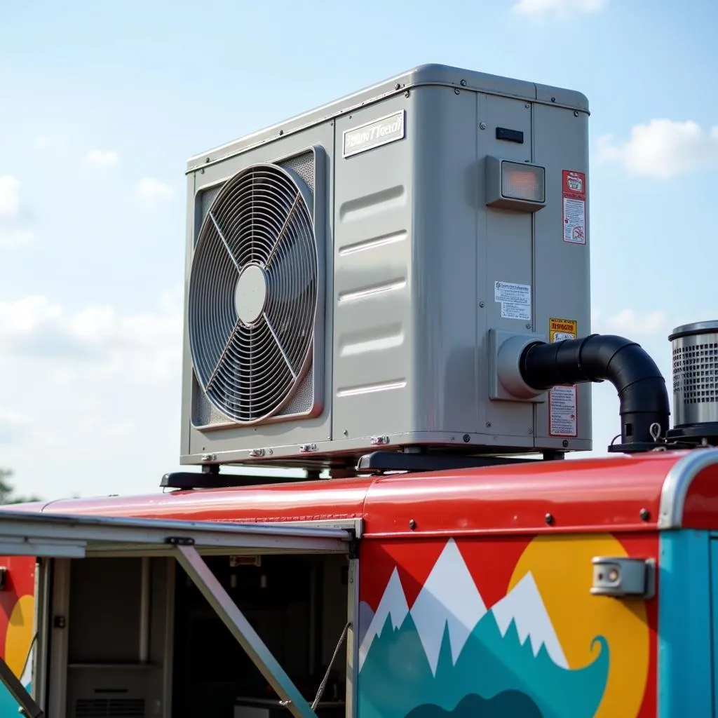
[[[189,334],[209,400],[240,423],[276,414],[309,365],[317,246],[302,180],[257,164],[225,184],[192,260]]]

